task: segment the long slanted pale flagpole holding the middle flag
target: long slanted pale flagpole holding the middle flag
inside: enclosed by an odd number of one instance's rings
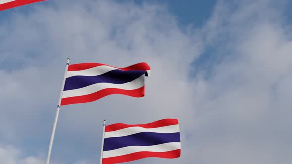
[[[51,138],[50,138],[50,143],[49,143],[49,151],[48,151],[48,157],[47,157],[47,163],[46,164],[49,164],[50,153],[51,153],[51,149],[52,149],[53,142],[54,142],[54,136],[55,136],[56,126],[57,126],[59,112],[60,112],[60,108],[61,108],[61,100],[62,100],[62,96],[63,96],[63,90],[64,90],[64,85],[65,85],[65,81],[66,81],[66,76],[67,76],[69,63],[70,63],[70,58],[67,59],[66,70],[65,70],[62,89],[61,89],[61,93],[60,93],[59,103],[58,103],[58,106],[57,106],[55,122],[54,122],[53,130],[52,130],[52,133],[51,133]]]

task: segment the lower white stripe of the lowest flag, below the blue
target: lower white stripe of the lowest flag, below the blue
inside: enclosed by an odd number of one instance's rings
[[[103,151],[103,158],[109,158],[109,157],[116,157],[116,156],[122,156],[130,153],[135,152],[167,152],[172,150],[177,150],[181,148],[180,142],[169,142],[159,145],[152,145],[152,146],[127,146],[115,150],[108,150]]]

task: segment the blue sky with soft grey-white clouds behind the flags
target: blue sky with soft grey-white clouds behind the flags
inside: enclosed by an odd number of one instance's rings
[[[292,163],[291,0],[48,0],[0,12],[0,164],[45,164],[67,57],[151,66],[146,95],[63,106],[50,164],[97,164],[103,119],[177,118],[182,154]],[[130,163],[127,163],[130,164]]]

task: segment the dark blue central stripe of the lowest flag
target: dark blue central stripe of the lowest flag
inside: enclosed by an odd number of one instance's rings
[[[126,146],[151,146],[168,142],[180,142],[180,133],[142,132],[123,137],[105,138],[103,151]]]

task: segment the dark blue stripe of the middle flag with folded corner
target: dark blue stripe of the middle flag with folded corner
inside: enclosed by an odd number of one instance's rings
[[[112,70],[97,76],[73,76],[66,78],[64,91],[79,89],[101,82],[123,84],[131,82],[143,74],[145,74],[145,71]]]

